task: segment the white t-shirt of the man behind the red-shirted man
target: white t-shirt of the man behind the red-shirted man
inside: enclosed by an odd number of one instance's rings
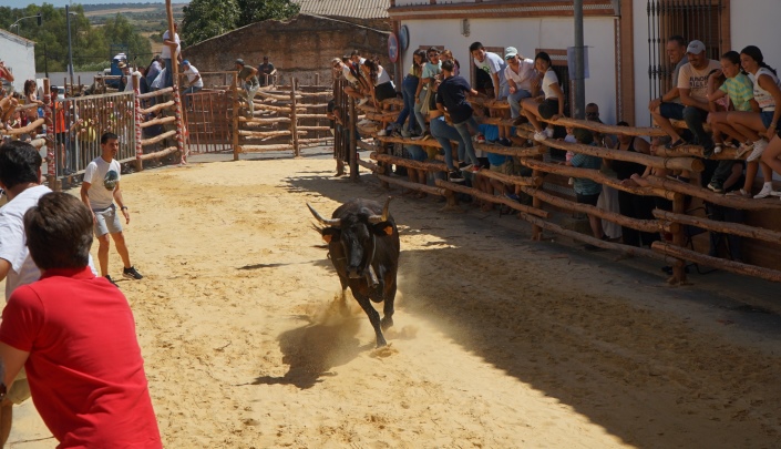
[[[41,271],[30,257],[24,235],[24,213],[38,205],[38,200],[51,192],[45,185],[27,188],[0,208],[0,258],[11,264],[6,277],[6,300],[17,287],[41,277]]]

